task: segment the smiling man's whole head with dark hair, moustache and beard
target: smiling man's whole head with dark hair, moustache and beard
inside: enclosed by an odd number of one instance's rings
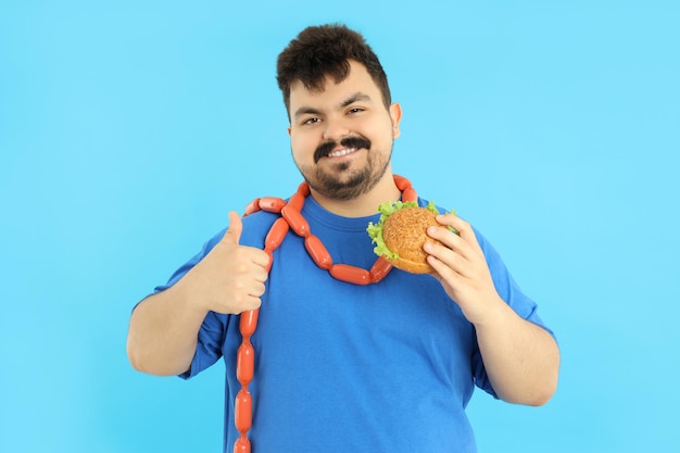
[[[317,200],[389,190],[401,108],[362,36],[340,25],[306,28],[278,68],[292,156]]]

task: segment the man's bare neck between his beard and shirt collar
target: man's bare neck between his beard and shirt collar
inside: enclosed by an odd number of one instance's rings
[[[381,203],[399,200],[401,191],[394,184],[393,175],[390,172],[386,172],[369,192],[352,200],[337,200],[313,189],[311,189],[311,194],[322,207],[333,214],[343,217],[366,217],[376,214]]]

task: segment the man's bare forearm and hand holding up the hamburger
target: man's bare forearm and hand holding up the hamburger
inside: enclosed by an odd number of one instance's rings
[[[559,350],[553,337],[507,305],[493,285],[483,251],[468,223],[452,214],[428,235],[444,246],[426,242],[428,262],[446,293],[473,323],[487,374],[504,401],[545,404],[557,388]]]

